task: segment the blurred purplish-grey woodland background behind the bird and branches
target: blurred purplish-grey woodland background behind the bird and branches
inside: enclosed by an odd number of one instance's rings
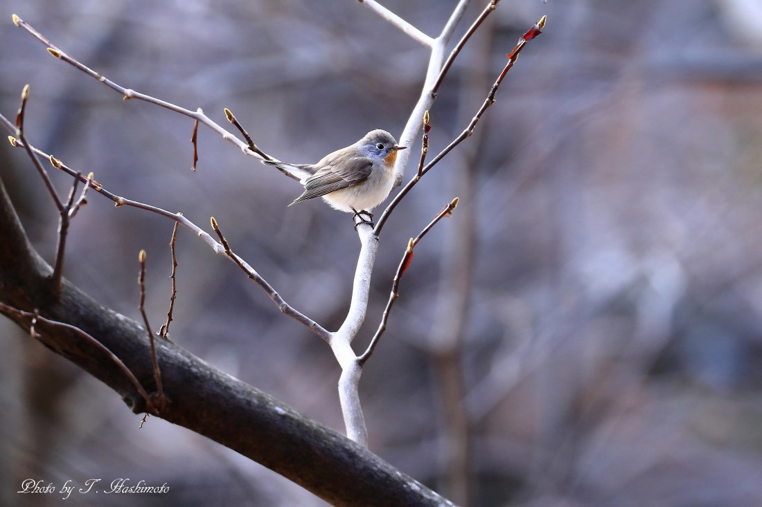
[[[474,0],[456,38],[486,5]],[[455,0],[384,0],[439,33]],[[127,88],[229,107],[264,151],[314,162],[370,129],[399,137],[423,46],[353,0],[0,0],[0,111],[31,87],[27,136],[108,190],[208,228],[299,311],[335,329],[359,242],[349,215],[203,126],[56,61],[15,13]],[[431,155],[469,122],[521,33],[546,30],[475,135],[387,222],[356,349],[375,330],[408,238],[419,244],[360,394],[370,449],[463,505],[762,505],[762,4],[504,0],[431,110]],[[411,159],[417,161],[420,140]],[[407,177],[413,164],[408,167]],[[56,212],[30,161],[0,177],[52,262]],[[68,191],[70,180],[52,174]],[[407,179],[407,178],[406,178]],[[168,308],[172,223],[95,194],[65,276],[139,319]],[[331,351],[193,234],[178,234],[174,341],[344,431]],[[0,503],[56,485],[167,483],[149,505],[325,505],[258,464],[151,418],[0,320]],[[252,428],[251,431],[256,431]],[[136,497],[81,495],[78,505]]]

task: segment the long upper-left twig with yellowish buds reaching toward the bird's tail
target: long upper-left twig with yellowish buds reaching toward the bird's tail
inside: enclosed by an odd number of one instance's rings
[[[95,72],[94,70],[90,69],[87,65],[84,65],[80,62],[78,62],[76,59],[72,58],[71,56],[67,55],[62,49],[59,49],[58,47],[54,46],[52,43],[50,43],[50,40],[47,40],[46,37],[43,37],[43,35],[38,32],[37,30],[34,30],[33,27],[31,27],[30,24],[28,24],[26,21],[19,18],[16,14],[13,14],[13,22],[17,27],[21,27],[24,30],[27,30],[34,38],[39,40],[41,43],[43,43],[48,50],[48,53],[55,56],[57,59],[60,59],[66,63],[69,63],[69,65],[74,66],[76,69],[81,70],[82,72],[85,72],[85,74],[91,76],[94,79],[97,79],[99,82],[106,85],[108,88],[111,88],[114,91],[119,92],[124,100],[130,100],[130,99],[138,99],[143,100],[145,102],[148,102],[149,104],[155,104],[160,107],[164,107],[165,109],[174,111],[175,113],[180,113],[184,116],[188,116],[190,118],[193,118],[194,120],[197,120],[200,123],[203,123],[210,129],[212,129],[214,132],[218,133],[220,136],[223,136],[223,139],[226,139],[229,142],[232,142],[232,144],[238,146],[241,151],[243,151],[246,155],[255,156],[255,153],[248,150],[248,145],[246,145],[244,142],[242,142],[241,139],[238,139],[235,137],[231,132],[228,132],[226,129],[223,129],[222,126],[219,126],[218,123],[214,122],[213,120],[210,120],[209,116],[203,113],[202,110],[196,110],[191,111],[188,109],[185,109],[184,107],[180,107],[175,104],[171,104],[170,102],[167,102],[166,100],[161,100],[155,97],[151,97],[150,95],[139,93],[138,91],[131,90],[130,88],[124,88],[121,85],[117,85],[114,81],[111,81],[110,79],[107,79],[104,75],[98,74],[98,72]],[[21,137],[21,136],[18,136]],[[23,141],[23,139],[22,139]]]

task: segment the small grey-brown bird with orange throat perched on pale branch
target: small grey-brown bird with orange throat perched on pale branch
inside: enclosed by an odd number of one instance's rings
[[[367,210],[364,214],[370,215],[370,210],[392,191],[397,152],[405,148],[386,130],[372,130],[354,145],[325,155],[317,164],[262,163],[278,167],[304,185],[302,195],[289,206],[322,197],[335,209],[355,215]]]

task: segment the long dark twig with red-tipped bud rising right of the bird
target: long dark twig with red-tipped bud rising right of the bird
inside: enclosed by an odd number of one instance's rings
[[[505,65],[503,71],[498,75],[497,80],[495,80],[495,84],[492,85],[492,88],[490,88],[489,93],[487,94],[487,98],[485,98],[484,103],[482,104],[482,107],[479,107],[479,110],[476,111],[475,116],[472,118],[471,123],[466,127],[466,129],[463,130],[463,132],[460,133],[459,136],[457,136],[455,139],[453,139],[452,142],[450,142],[447,147],[445,147],[440,153],[434,157],[434,159],[426,164],[421,171],[419,171],[419,174],[422,176],[426,174],[431,167],[434,167],[442,158],[444,158],[445,155],[450,153],[450,151],[453,150],[457,145],[459,145],[463,140],[468,138],[472,135],[476,123],[479,123],[479,119],[482,117],[482,114],[484,114],[485,110],[487,110],[488,107],[490,107],[492,104],[495,104],[495,93],[498,91],[498,87],[500,86],[501,82],[503,82],[503,78],[505,78],[505,75],[509,70],[511,70],[511,67],[514,66],[514,63],[516,62],[516,59],[519,56],[519,53],[521,52],[521,49],[523,49],[524,46],[526,46],[527,42],[532,40],[533,38],[537,37],[539,33],[541,33],[542,28],[545,26],[546,17],[543,16],[533,27],[531,27],[529,30],[527,30],[527,33],[524,33],[517,45],[514,47],[514,49],[511,51],[511,53],[507,54],[508,62]],[[389,214],[394,211],[395,207],[399,204],[399,202],[402,200],[403,197],[405,197],[410,190],[415,187],[415,183],[418,183],[418,180],[420,180],[420,177],[418,174],[415,175],[411,180],[408,181],[408,183],[405,184],[405,187],[402,187],[402,190],[397,193],[397,195],[392,199],[392,202],[389,202],[389,206],[386,206],[386,209],[384,209],[383,213],[378,219],[378,222],[376,222],[376,227],[373,229],[373,232],[378,235],[381,232],[381,229],[383,228],[383,225],[386,223],[386,220],[389,218]]]

